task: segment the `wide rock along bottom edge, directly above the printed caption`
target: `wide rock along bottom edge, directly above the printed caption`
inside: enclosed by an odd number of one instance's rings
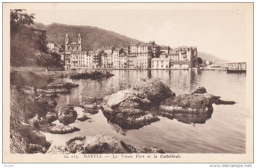
[[[83,154],[118,154],[118,153],[164,153],[158,147],[149,147],[144,149],[136,149],[131,145],[125,144],[123,141],[115,137],[104,134],[94,136],[75,137],[66,142],[65,150],[70,153]]]

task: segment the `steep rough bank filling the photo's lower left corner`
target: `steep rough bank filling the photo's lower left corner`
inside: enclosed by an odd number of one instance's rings
[[[44,134],[39,132],[35,126],[30,125],[27,114],[25,97],[18,91],[16,86],[10,88],[10,151],[11,153],[34,153],[37,147],[49,148],[50,144],[46,141]],[[40,150],[37,150],[40,152]]]

